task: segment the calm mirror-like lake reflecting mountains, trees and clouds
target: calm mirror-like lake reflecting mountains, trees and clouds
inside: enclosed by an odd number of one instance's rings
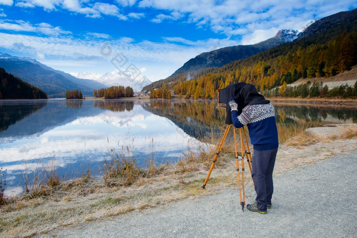
[[[304,123],[357,123],[357,107],[274,103],[278,130]],[[7,196],[23,192],[22,176],[54,164],[61,178],[100,175],[111,151],[174,163],[187,146],[225,128],[214,100],[1,100],[0,167]],[[129,148],[127,152],[126,148]],[[122,150],[123,149],[123,150]]]

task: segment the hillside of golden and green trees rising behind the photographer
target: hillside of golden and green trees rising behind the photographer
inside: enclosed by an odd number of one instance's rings
[[[341,19],[338,24],[329,25],[328,30],[322,29],[220,68],[195,72],[190,75],[192,80],[187,80],[188,74],[180,74],[154,82],[145,89],[167,88],[194,98],[215,98],[218,89],[237,82],[254,84],[263,91],[301,77],[336,75],[357,64],[357,11],[351,12],[352,19]]]

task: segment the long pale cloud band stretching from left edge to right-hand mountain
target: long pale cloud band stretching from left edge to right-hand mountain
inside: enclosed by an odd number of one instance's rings
[[[1,27],[1,24],[0,24]],[[33,30],[31,26],[29,30]],[[20,30],[19,30],[20,31]],[[0,33],[0,47],[9,50],[18,50],[29,54],[43,54],[46,58],[55,57],[63,61],[78,60],[94,62],[105,59],[100,54],[104,41],[98,39],[75,39],[72,36],[39,37],[21,34]],[[193,43],[192,43],[193,44]],[[111,55],[106,60],[112,60],[120,52],[131,62],[172,63],[180,67],[190,58],[207,51],[214,46],[213,42],[197,43],[196,47],[176,45],[170,42],[156,43],[151,41],[133,42],[132,38],[120,38],[110,41]],[[199,47],[197,47],[199,46]],[[87,64],[87,63],[86,63]],[[114,67],[112,65],[112,67]],[[127,67],[127,65],[125,66]],[[146,67],[146,66],[145,66]],[[172,72],[171,72],[172,73]]]

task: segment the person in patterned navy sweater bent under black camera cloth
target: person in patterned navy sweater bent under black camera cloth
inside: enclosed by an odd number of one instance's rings
[[[261,214],[271,208],[273,194],[273,169],[278,148],[278,136],[274,107],[251,84],[238,83],[236,93],[229,100],[235,127],[247,125],[253,145],[252,178],[256,190],[256,202],[247,209]]]

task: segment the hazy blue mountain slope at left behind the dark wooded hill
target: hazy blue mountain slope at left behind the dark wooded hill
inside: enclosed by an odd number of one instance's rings
[[[93,80],[77,78],[55,70],[31,58],[0,53],[0,67],[42,89],[48,97],[64,97],[67,90],[73,89],[81,90],[84,96],[92,96],[94,89],[107,87]]]

